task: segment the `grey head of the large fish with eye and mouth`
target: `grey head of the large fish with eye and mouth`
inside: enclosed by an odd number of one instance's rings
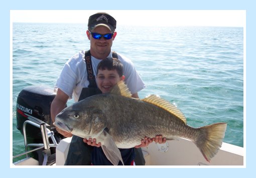
[[[83,106],[82,106],[83,105]],[[97,106],[77,102],[63,109],[55,119],[55,125],[80,137],[96,137],[106,127],[105,115]]]

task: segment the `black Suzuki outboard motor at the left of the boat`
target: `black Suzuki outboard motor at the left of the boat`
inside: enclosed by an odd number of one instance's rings
[[[35,123],[45,122],[48,129],[54,131],[54,137],[57,142],[63,138],[59,134],[51,119],[51,103],[56,93],[53,88],[47,86],[28,86],[25,87],[17,98],[17,128],[23,134],[23,123],[31,120]],[[42,139],[40,128],[28,124],[26,126],[27,137],[37,140]]]

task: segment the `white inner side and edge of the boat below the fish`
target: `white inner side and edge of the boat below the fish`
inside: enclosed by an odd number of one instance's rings
[[[56,148],[56,165],[64,165],[71,138],[60,141]],[[223,142],[218,153],[206,161],[196,145],[187,139],[168,141],[167,144],[151,143],[143,148],[146,165],[243,165],[243,147]],[[160,149],[160,150],[159,150]]]

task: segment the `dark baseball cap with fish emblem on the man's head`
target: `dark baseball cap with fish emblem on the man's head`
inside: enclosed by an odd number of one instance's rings
[[[88,30],[92,31],[97,26],[105,26],[111,32],[116,28],[116,20],[108,13],[95,13],[89,17]]]

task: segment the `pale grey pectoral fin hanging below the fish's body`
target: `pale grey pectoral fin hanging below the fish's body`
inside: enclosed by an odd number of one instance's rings
[[[120,150],[117,148],[112,137],[105,130],[101,134],[103,134],[101,136],[104,136],[104,141],[103,144],[101,143],[101,148],[108,160],[114,165],[117,165],[119,160],[121,160],[122,164],[124,165]]]

